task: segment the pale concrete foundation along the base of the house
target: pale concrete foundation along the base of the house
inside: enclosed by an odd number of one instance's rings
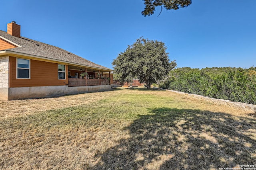
[[[66,86],[18,87],[18,88],[6,88],[6,89],[1,90],[1,92],[3,93],[3,96],[5,96],[2,99],[0,97],[1,100],[47,98],[47,97],[63,96],[66,94],[102,92],[102,91],[111,90],[111,86],[103,85],[103,86],[68,87],[66,85]],[[0,96],[2,96],[1,92],[0,92]],[[7,92],[7,94],[6,94],[6,92]]]

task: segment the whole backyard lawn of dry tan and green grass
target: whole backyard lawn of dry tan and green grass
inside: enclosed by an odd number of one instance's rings
[[[0,101],[0,169],[219,169],[256,164],[255,113],[118,88]]]

